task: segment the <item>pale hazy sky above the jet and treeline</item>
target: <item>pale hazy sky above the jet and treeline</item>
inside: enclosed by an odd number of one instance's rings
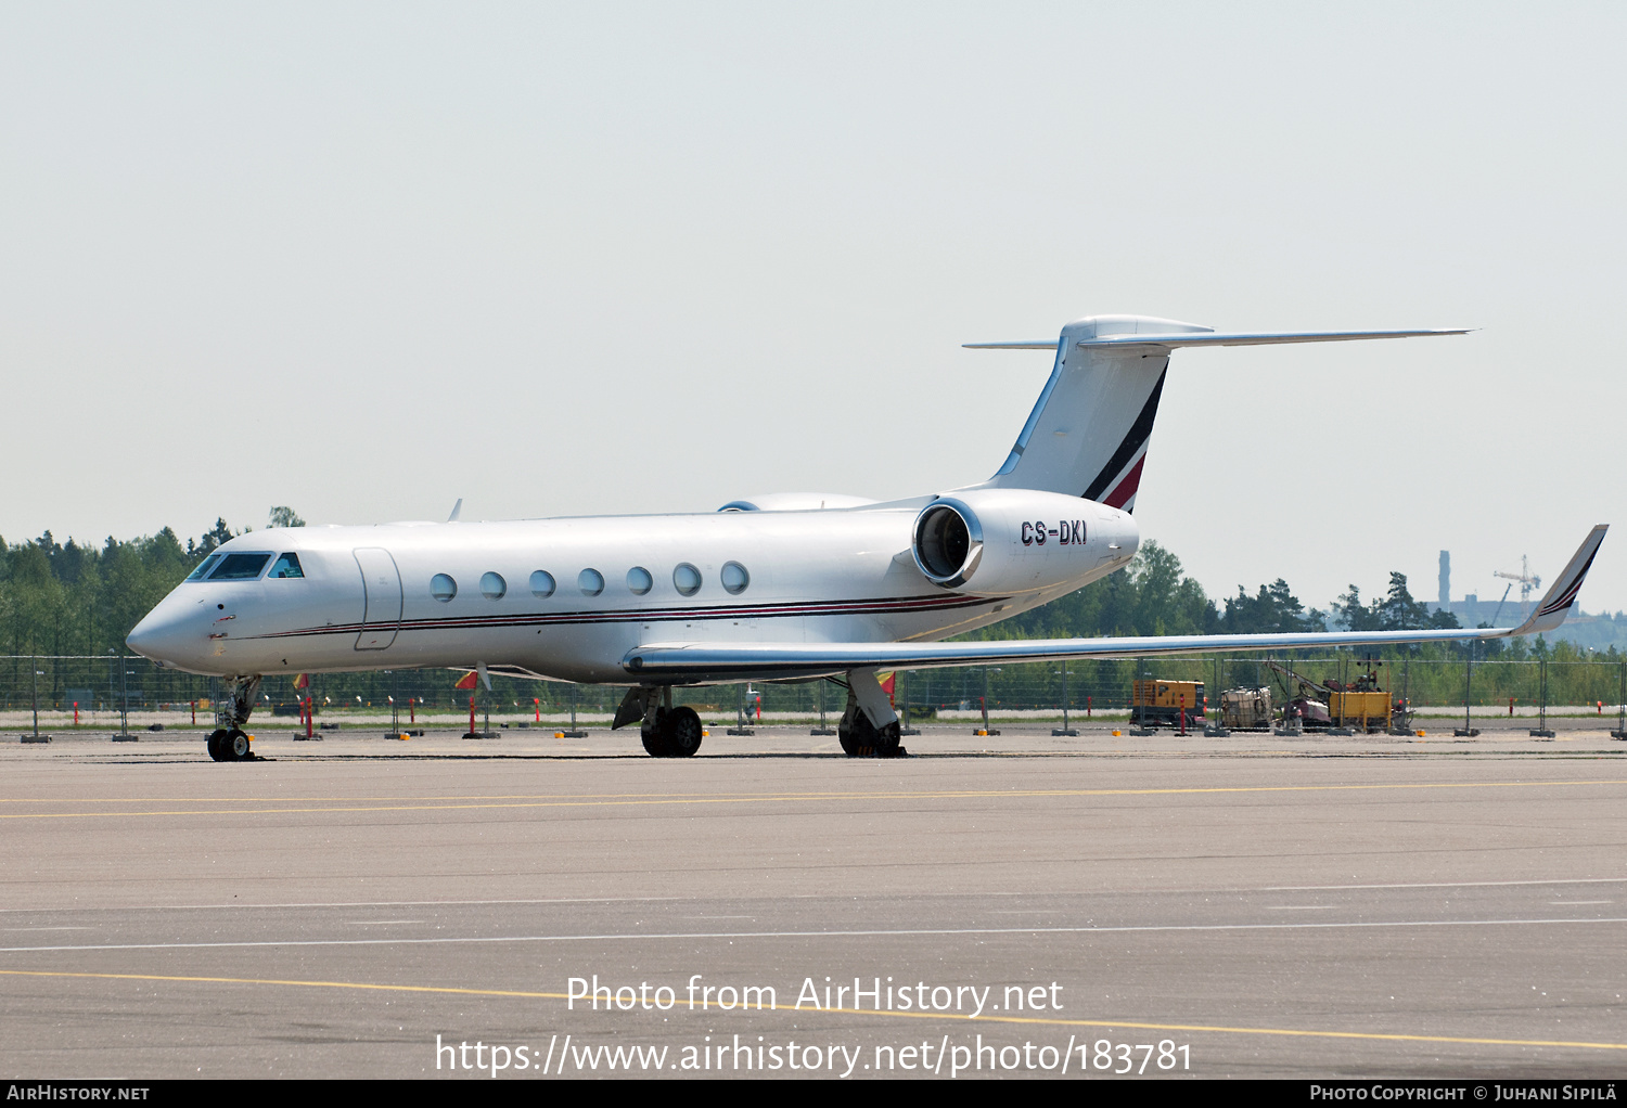
[[[1217,599],[1551,579],[1622,513],[1627,7],[0,7],[0,534],[986,478],[1054,337],[1178,351]],[[1518,599],[1518,592],[1513,599]],[[1627,530],[1583,589],[1627,609]]]

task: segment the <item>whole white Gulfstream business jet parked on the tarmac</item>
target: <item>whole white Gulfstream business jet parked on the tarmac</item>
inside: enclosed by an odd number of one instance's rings
[[[1136,553],[1131,513],[1176,347],[1458,335],[1461,330],[1224,334],[1093,316],[1056,342],[1051,377],[999,472],[888,503],[753,496],[718,513],[516,522],[301,527],[215,550],[130,633],[159,665],[231,682],[210,735],[247,757],[268,674],[478,669],[626,685],[615,727],[657,757],[693,755],[701,721],[674,685],[844,678],[848,753],[898,750],[877,669],[1263,648],[1425,643],[1559,626],[1604,539],[1594,527],[1515,628],[944,643],[1072,592]]]

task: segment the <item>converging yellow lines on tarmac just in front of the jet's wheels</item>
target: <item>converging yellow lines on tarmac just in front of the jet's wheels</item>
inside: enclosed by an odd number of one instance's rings
[[[966,800],[966,799],[1023,799],[1023,797],[1087,797],[1087,796],[1189,796],[1189,794],[1245,794],[1245,792],[1375,792],[1398,789],[1521,789],[1521,787],[1564,787],[1564,786],[1604,786],[1627,784],[1627,779],[1603,781],[1433,781],[1412,784],[1261,784],[1261,786],[1222,786],[1222,787],[1180,787],[1180,789],[923,789],[923,791],[882,791],[882,792],[739,792],[722,796],[701,794],[586,794],[565,797],[447,797],[441,802],[423,804],[322,804],[321,797],[288,797],[267,799],[264,804],[312,804],[321,807],[260,807],[260,809],[158,809],[158,810],[122,810],[122,812],[0,812],[0,820],[62,820],[91,817],[135,817],[135,815],[299,815],[312,812],[446,812],[467,809],[569,809],[569,807],[657,807],[675,804],[786,804],[796,800]],[[353,800],[360,797],[334,797],[335,800]],[[379,797],[381,800],[413,799],[413,797]],[[454,802],[457,800],[457,802]],[[138,800],[130,797],[106,800],[72,800],[72,799],[11,799],[10,804],[185,804],[185,799],[163,797],[155,800]],[[252,797],[203,797],[197,804],[257,804]]]

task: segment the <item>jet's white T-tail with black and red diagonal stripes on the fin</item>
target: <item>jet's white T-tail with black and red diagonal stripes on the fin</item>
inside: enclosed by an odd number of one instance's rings
[[[966,343],[970,350],[1053,350],[1056,363],[1010,456],[984,488],[1035,488],[1136,509],[1152,423],[1176,347],[1461,335],[1450,330],[1217,332],[1152,316],[1087,316],[1058,340]]]

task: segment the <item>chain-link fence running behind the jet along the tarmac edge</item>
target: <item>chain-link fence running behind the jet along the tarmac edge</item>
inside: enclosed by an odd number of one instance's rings
[[[1276,667],[1272,665],[1276,662]],[[1289,670],[1289,675],[1280,670]],[[895,701],[919,719],[939,713],[979,711],[988,701],[997,713],[1123,713],[1136,677],[1202,682],[1210,703],[1220,690],[1271,687],[1276,703],[1300,691],[1298,680],[1349,685],[1373,674],[1376,687],[1415,709],[1463,709],[1476,714],[1494,709],[1531,714],[1549,709],[1596,714],[1617,711],[1627,688],[1627,662],[1603,657],[1580,662],[1471,661],[1463,657],[1424,659],[1407,654],[1365,659],[1350,651],[1316,657],[1240,656],[1163,657],[1124,661],[1030,662],[1020,665],[975,665],[926,669],[896,675]],[[267,677],[259,691],[255,714],[298,716],[298,701],[311,696],[317,716],[389,711],[390,704],[408,713],[467,711],[473,696],[493,714],[561,714],[573,708],[592,716],[615,711],[623,688],[571,685],[493,677],[491,690],[457,690],[462,674],[454,670],[382,670],[371,674],[312,674],[309,688],[294,690],[288,677]],[[1544,693],[1546,683],[1546,693]],[[210,711],[221,695],[221,682],[153,665],[132,656],[3,656],[0,657],[0,709],[70,713],[116,713],[129,704],[132,713],[176,713],[197,708]],[[757,682],[685,688],[677,701],[706,711],[752,716],[840,714],[846,693],[827,682]],[[203,716],[200,714],[200,719]]]

